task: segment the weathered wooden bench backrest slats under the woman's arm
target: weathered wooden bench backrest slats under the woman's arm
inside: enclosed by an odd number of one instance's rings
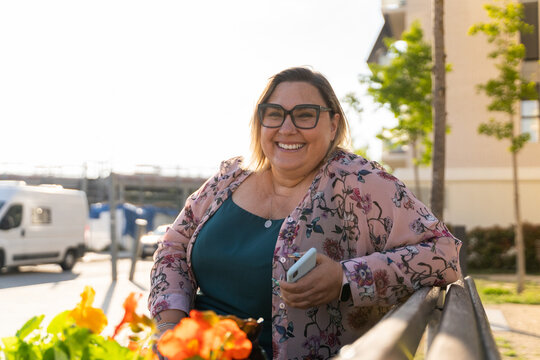
[[[343,347],[337,359],[413,359],[424,333],[426,360],[500,359],[469,276],[446,289],[418,290],[366,334]]]

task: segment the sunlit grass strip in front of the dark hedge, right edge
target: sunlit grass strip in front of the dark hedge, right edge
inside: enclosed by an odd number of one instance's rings
[[[526,281],[525,290],[518,294],[514,282],[486,280],[474,275],[472,277],[484,304],[540,305],[540,284],[537,282]]]

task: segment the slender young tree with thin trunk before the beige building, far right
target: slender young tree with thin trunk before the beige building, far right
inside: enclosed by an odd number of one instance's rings
[[[484,5],[488,23],[478,23],[469,29],[470,35],[484,33],[494,48],[488,56],[495,59],[498,77],[478,85],[478,90],[491,98],[489,111],[502,112],[504,120],[491,118],[480,124],[478,132],[494,136],[498,140],[509,140],[512,159],[512,182],[514,197],[515,245],[517,250],[517,291],[521,293],[525,284],[525,246],[519,206],[517,155],[529,140],[529,134],[519,134],[514,122],[517,106],[521,100],[537,99],[534,82],[527,81],[520,73],[525,47],[519,39],[520,33],[532,32],[533,27],[523,21],[523,5],[504,1],[501,6]]]

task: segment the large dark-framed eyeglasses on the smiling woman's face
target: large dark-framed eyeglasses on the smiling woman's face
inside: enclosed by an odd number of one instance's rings
[[[291,120],[299,129],[313,129],[319,122],[321,111],[332,111],[321,105],[300,104],[291,110],[285,110],[278,104],[259,104],[258,113],[261,125],[267,128],[278,128],[283,125],[287,115],[291,115]]]

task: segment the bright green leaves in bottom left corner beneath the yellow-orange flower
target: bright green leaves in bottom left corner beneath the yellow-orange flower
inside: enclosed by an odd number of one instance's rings
[[[41,326],[43,318],[44,315],[34,316],[17,331],[15,336],[3,338],[0,343],[0,359],[143,359],[115,340],[75,326],[69,311],[58,314],[46,330]]]

